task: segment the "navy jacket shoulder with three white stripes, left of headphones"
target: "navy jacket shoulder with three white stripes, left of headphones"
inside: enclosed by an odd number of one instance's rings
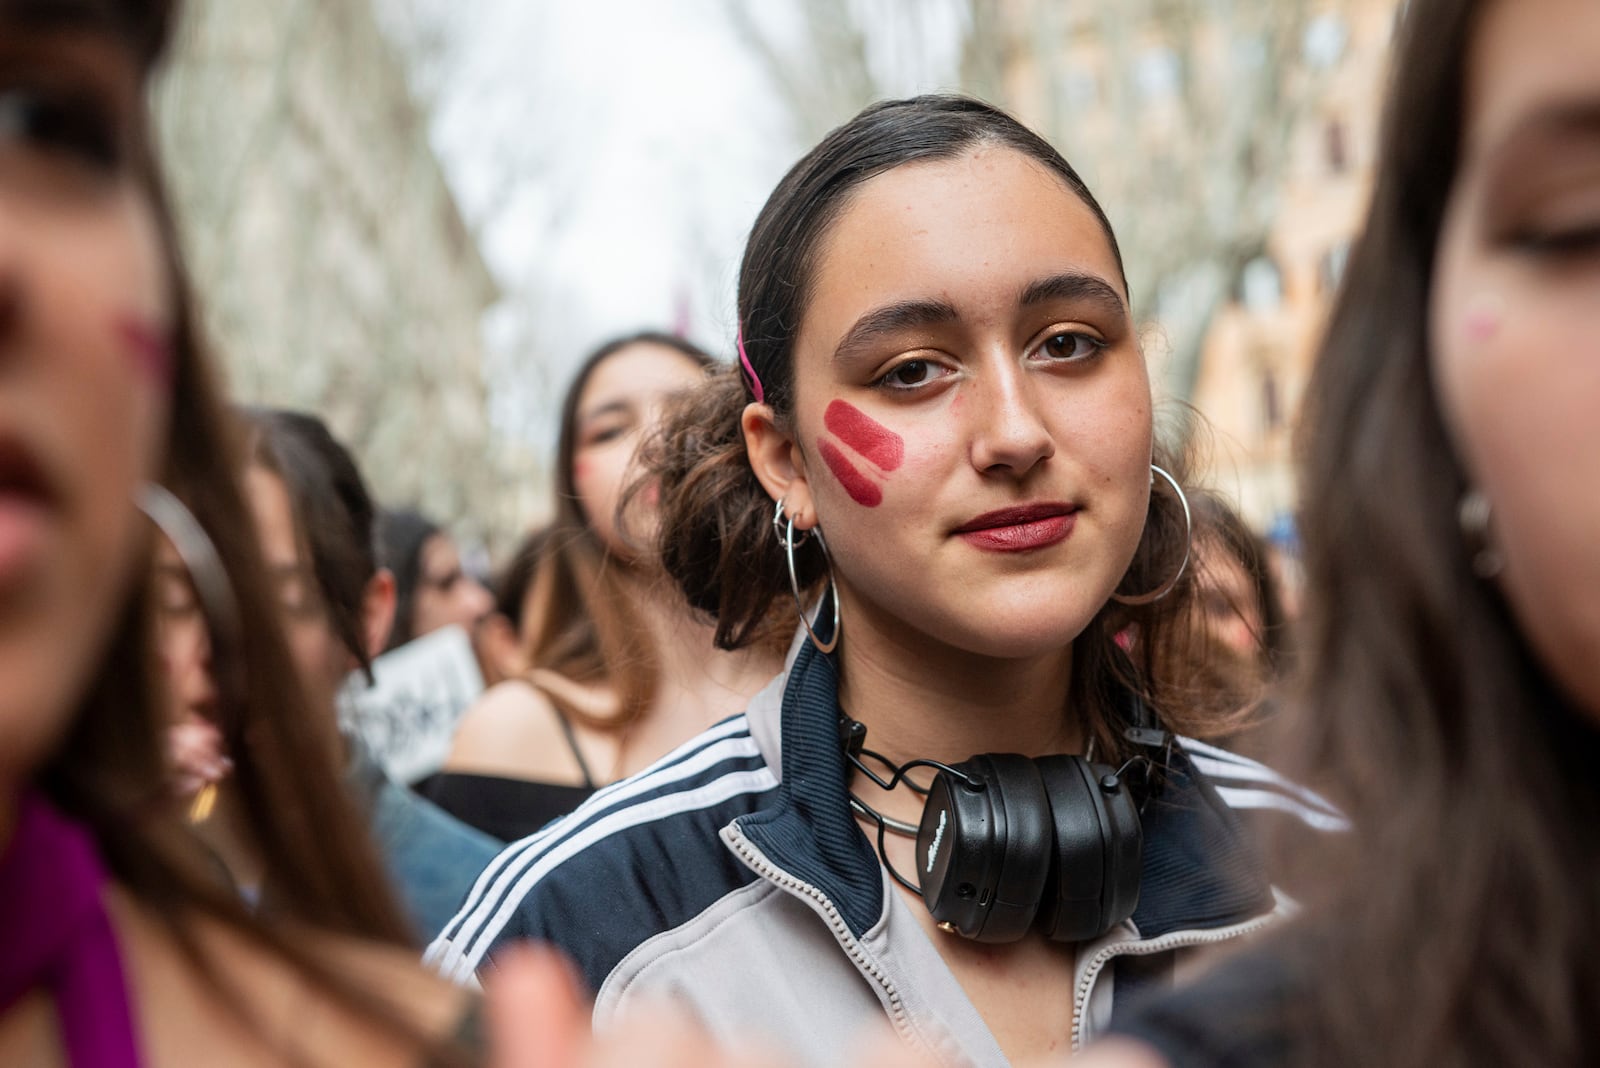
[[[720,835],[770,804],[776,787],[744,716],[725,719],[501,851],[429,962],[470,982],[498,946],[538,938],[598,988],[634,946],[754,879]]]

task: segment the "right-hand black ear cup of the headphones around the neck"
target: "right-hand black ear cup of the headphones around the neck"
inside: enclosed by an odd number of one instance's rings
[[[1038,761],[1050,796],[1054,865],[1040,927],[1056,942],[1096,938],[1139,905],[1144,830],[1133,793],[1106,764]]]

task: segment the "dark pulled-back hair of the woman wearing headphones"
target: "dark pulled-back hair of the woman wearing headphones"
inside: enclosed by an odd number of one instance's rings
[[[744,350],[760,376],[763,398],[781,428],[794,419],[794,341],[805,318],[818,265],[832,224],[869,179],[907,163],[950,160],[1000,147],[1045,166],[1099,222],[1117,261],[1122,254],[1110,222],[1077,171],[1038,134],[1005,112],[962,96],[920,96],[874,104],[805,155],[766,200],[739,269],[739,328]],[[1126,288],[1126,281],[1123,288]],[[773,500],[750,468],[741,416],[754,392],[738,369],[717,374],[686,397],[646,451],[661,478],[661,556],[690,604],[717,622],[717,643],[734,649],[762,641],[774,628],[790,633],[797,620],[789,596],[782,547],[773,537]],[[1186,452],[1157,444],[1155,462],[1187,481]],[[1144,537],[1120,588],[1154,592],[1178,571],[1186,552],[1186,523],[1165,481],[1152,480]],[[803,592],[816,595],[824,579],[819,550],[797,552]],[[1106,604],[1074,641],[1069,702],[1085,710],[1101,759],[1128,755],[1120,692],[1134,687],[1168,726],[1214,734],[1218,708],[1195,673],[1194,577],[1187,571],[1171,593],[1144,606]],[[1117,636],[1136,630],[1133,659]],[[1230,710],[1229,710],[1230,711]]]

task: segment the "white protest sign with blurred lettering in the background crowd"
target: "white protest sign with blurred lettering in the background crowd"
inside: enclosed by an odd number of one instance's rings
[[[440,769],[456,723],[478,694],[483,675],[472,640],[443,627],[373,660],[373,684],[355,671],[339,692],[339,726],[358,734],[395,782]]]

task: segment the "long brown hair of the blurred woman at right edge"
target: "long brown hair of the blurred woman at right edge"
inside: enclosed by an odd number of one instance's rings
[[[1472,571],[1429,363],[1485,6],[1408,5],[1370,214],[1307,389],[1294,769],[1354,823],[1302,932],[1298,1026],[1330,1065],[1600,1057],[1600,747]]]

